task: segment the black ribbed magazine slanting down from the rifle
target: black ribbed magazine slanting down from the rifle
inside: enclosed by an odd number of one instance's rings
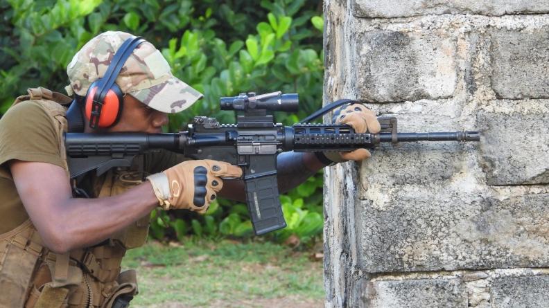
[[[255,235],[286,227],[279,200],[277,171],[245,174],[244,185],[248,212]]]

